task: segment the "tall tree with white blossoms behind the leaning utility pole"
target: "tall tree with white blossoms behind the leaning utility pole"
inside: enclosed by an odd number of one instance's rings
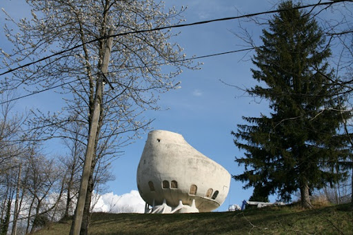
[[[47,138],[66,138],[73,136],[68,134],[72,132],[69,124],[78,122],[85,126],[87,139],[97,103],[95,96],[103,91],[94,133],[92,178],[97,159],[114,156],[119,147],[145,130],[150,120],[143,117],[143,112],[159,109],[159,93],[178,87],[174,77],[182,68],[195,68],[183,60],[183,49],[169,42],[174,36],[170,30],[150,30],[180,23],[185,9],[164,10],[163,3],[151,0],[27,2],[32,8],[32,19],[16,22],[8,15],[11,25],[17,28],[5,26],[13,48],[3,52],[1,69],[61,53],[13,71],[0,80],[0,89],[25,87],[37,92],[60,87],[66,105],[55,114],[35,112],[32,130],[47,134]],[[134,33],[114,37],[107,45],[109,32]],[[104,59],[108,63],[104,64]],[[99,79],[110,86],[99,87]],[[88,207],[89,202],[87,195]]]

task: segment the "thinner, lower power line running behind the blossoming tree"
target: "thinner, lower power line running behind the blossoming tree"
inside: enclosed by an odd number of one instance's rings
[[[182,62],[182,61],[190,61],[190,60],[194,60],[194,59],[203,59],[203,58],[207,58],[207,57],[216,57],[216,56],[220,56],[220,55],[223,55],[223,54],[231,54],[231,53],[236,53],[236,52],[245,52],[245,51],[248,51],[248,50],[253,50],[254,48],[245,48],[245,49],[241,49],[241,50],[231,50],[229,52],[220,52],[220,53],[216,53],[216,54],[207,54],[207,55],[203,55],[203,56],[200,56],[200,57],[191,57],[191,58],[187,58],[187,59],[180,59],[180,60],[177,60],[177,61],[168,61],[168,62],[165,62],[165,63],[159,63],[157,64],[158,65],[165,65],[167,63],[177,63],[177,62]],[[125,69],[125,70],[119,70],[118,72],[125,72],[125,71],[129,71],[129,70],[138,70],[138,69],[141,69],[141,68],[146,68],[147,66],[140,66],[140,67],[135,67],[135,68],[128,68],[128,69]],[[48,90],[52,90],[52,89],[55,89],[55,88],[59,88],[63,85],[68,85],[70,83],[74,83],[76,81],[80,81],[82,80],[83,78],[80,78],[80,79],[75,79],[73,81],[68,81],[66,83],[61,83],[60,85],[54,85],[53,87],[51,88],[46,88],[46,89],[43,89],[43,90],[39,90],[39,91],[36,91],[36,92],[32,92],[30,94],[25,94],[23,96],[19,96],[19,97],[16,97],[14,99],[10,99],[8,101],[3,101],[0,103],[0,105],[3,105],[4,103],[10,103],[12,101],[17,101],[19,99],[23,99],[23,98],[26,98],[28,96],[32,96],[34,94],[39,94],[41,92],[46,92]],[[108,79],[107,79],[108,81]],[[111,85],[111,84],[110,84]],[[111,85],[112,87],[112,85]]]

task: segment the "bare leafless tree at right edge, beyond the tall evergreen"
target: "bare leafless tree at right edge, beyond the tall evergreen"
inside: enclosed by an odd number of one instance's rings
[[[331,46],[335,50],[332,53],[332,68],[335,70],[334,80],[332,83],[337,88],[341,88],[341,93],[336,94],[337,96],[341,95],[341,99],[338,99],[341,109],[336,110],[341,113],[343,119],[342,134],[345,136],[347,146],[350,146],[352,149],[353,139],[352,139],[352,121],[350,119],[345,119],[345,112],[353,112],[353,12],[352,12],[352,1],[336,1],[339,4],[332,4],[330,8],[325,8],[321,10],[316,10],[315,14],[316,19],[321,23],[323,31],[327,37],[327,47]],[[328,12],[325,12],[327,10]],[[327,20],[325,14],[332,14],[330,20]],[[314,68],[316,70],[316,68]],[[343,94],[343,95],[342,95]],[[342,99],[344,98],[344,99]],[[341,159],[340,169],[338,171],[351,169],[350,172],[350,187],[351,187],[351,203],[353,205],[353,159],[352,155],[348,159]],[[348,184],[348,185],[347,185]],[[330,192],[330,198],[336,198],[337,203],[341,202],[341,196],[339,193],[343,192],[342,190],[347,190],[349,183],[347,180],[327,187],[326,192]],[[334,196],[332,196],[334,195]],[[344,195],[344,201],[347,201],[347,195]]]

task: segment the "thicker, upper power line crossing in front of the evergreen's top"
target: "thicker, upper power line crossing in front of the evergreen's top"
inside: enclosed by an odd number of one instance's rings
[[[329,1],[329,2],[325,2],[325,3],[319,2],[319,3],[310,4],[310,5],[306,5],[306,6],[297,6],[296,8],[291,8],[291,9],[303,9],[303,8],[310,8],[310,7],[316,7],[316,6],[326,6],[326,5],[332,5],[334,3],[339,3],[339,2],[344,2],[344,1],[352,2],[352,0]],[[8,71],[1,73],[0,76],[4,75],[4,74],[8,74],[10,72],[14,72],[16,70],[19,70],[20,68],[25,68],[25,67],[27,67],[29,65],[33,65],[35,63],[39,63],[41,61],[45,61],[46,59],[50,59],[51,57],[55,57],[55,56],[57,56],[59,54],[63,54],[65,52],[70,52],[71,50],[74,50],[76,48],[80,48],[81,46],[83,46],[85,44],[94,43],[94,42],[99,41],[101,39],[108,39],[108,37],[119,37],[119,36],[124,36],[124,35],[128,35],[128,34],[138,34],[138,33],[143,33],[143,32],[152,32],[152,31],[159,31],[159,30],[165,30],[165,29],[171,29],[171,28],[181,28],[181,27],[186,27],[186,26],[201,25],[201,24],[212,23],[212,22],[217,22],[217,21],[229,21],[229,20],[232,20],[232,19],[256,17],[256,16],[259,16],[261,14],[272,14],[272,13],[277,13],[277,12],[284,12],[286,10],[289,10],[289,9],[270,10],[270,11],[266,11],[266,12],[256,12],[256,13],[252,13],[252,14],[243,14],[243,15],[238,16],[238,17],[225,17],[225,18],[219,18],[219,19],[211,19],[211,20],[208,20],[208,21],[198,21],[198,22],[194,22],[194,23],[183,23],[183,24],[180,24],[180,25],[169,25],[169,26],[160,27],[160,28],[153,28],[153,29],[150,29],[150,30],[137,30],[137,31],[131,31],[131,32],[123,32],[123,33],[119,33],[119,34],[112,34],[111,36],[105,36],[105,37],[101,37],[99,39],[93,39],[93,40],[87,41],[85,43],[81,43],[79,45],[75,45],[72,48],[68,48],[66,50],[62,50],[61,52],[57,52],[57,53],[51,54],[48,57],[43,57],[41,59],[38,59],[37,61],[32,61],[30,63],[26,63],[24,65],[20,65],[17,68],[10,68]]]

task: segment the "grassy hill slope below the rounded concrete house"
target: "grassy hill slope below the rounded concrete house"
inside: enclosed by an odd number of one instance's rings
[[[35,234],[68,234],[71,222]],[[353,234],[353,211],[345,204],[314,210],[287,205],[199,214],[94,213],[89,234]]]

